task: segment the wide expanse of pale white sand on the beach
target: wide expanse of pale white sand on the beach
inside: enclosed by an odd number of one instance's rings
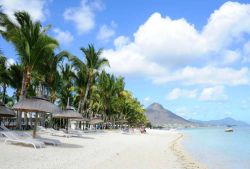
[[[183,169],[183,155],[175,148],[180,134],[150,130],[126,135],[118,131],[86,134],[86,138],[56,138],[63,144],[42,149],[0,141],[0,169]],[[190,159],[188,159],[190,162]]]

